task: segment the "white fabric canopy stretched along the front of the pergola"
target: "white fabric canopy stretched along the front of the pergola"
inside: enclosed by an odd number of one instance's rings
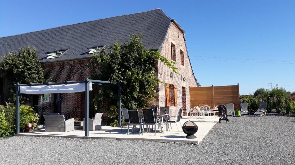
[[[19,93],[45,94],[45,93],[75,93],[85,92],[85,83],[58,84],[58,85],[27,85],[20,86]],[[92,90],[92,83],[89,83],[89,90]]]

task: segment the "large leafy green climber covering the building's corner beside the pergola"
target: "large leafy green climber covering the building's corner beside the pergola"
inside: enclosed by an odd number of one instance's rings
[[[158,61],[168,66],[174,73],[178,68],[174,61],[168,60],[159,51],[145,50],[142,35],[130,34],[130,40],[120,44],[115,41],[113,46],[94,53],[90,63],[94,70],[101,69],[101,74],[94,76],[99,80],[121,84],[122,107],[136,109],[144,107],[155,96],[155,87],[160,83],[155,75]],[[116,88],[102,88],[103,92],[94,98],[97,108],[104,100],[108,107],[109,122],[117,124],[117,90]]]

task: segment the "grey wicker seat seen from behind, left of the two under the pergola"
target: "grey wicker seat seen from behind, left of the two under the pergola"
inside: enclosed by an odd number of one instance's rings
[[[74,118],[65,121],[63,115],[44,115],[45,132],[69,132],[74,130]]]

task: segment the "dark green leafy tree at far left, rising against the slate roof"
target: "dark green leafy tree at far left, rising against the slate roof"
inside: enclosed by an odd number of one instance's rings
[[[37,53],[34,47],[22,46],[17,52],[9,51],[3,56],[0,71],[5,73],[3,77],[9,82],[10,101],[15,97],[13,84],[44,83],[43,69]]]

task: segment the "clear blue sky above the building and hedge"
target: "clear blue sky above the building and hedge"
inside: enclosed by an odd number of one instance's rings
[[[186,31],[202,86],[295,91],[295,1],[2,1],[0,36],[161,8]]]

